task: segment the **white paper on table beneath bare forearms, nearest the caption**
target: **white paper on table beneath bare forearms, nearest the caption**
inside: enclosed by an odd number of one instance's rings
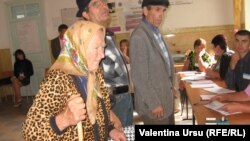
[[[204,106],[207,107],[207,108],[209,108],[209,109],[211,109],[211,110],[214,110],[214,111],[216,111],[216,112],[219,112],[219,113],[221,113],[222,115],[225,115],[225,116],[227,116],[227,115],[233,115],[233,114],[240,114],[240,113],[241,113],[241,112],[229,113],[229,112],[220,110],[220,108],[221,108],[222,106],[224,106],[225,104],[226,104],[226,103],[221,103],[221,102],[219,102],[219,101],[213,101],[213,102],[211,102],[211,103],[209,103],[209,104],[206,104],[206,105],[204,105]]]

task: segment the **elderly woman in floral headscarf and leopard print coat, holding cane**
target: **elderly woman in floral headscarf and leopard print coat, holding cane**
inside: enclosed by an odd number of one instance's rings
[[[64,48],[23,123],[25,140],[126,140],[110,121],[109,91],[99,69],[104,37],[104,27],[87,21],[66,31]]]

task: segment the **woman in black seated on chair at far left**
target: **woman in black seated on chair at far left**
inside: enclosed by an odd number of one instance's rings
[[[14,76],[1,79],[0,86],[12,84],[15,93],[14,107],[20,107],[22,102],[20,87],[30,84],[30,76],[34,72],[33,65],[30,60],[26,59],[23,50],[16,50],[14,55]]]

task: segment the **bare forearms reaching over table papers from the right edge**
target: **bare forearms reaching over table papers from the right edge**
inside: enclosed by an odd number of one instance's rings
[[[222,110],[227,111],[229,113],[234,112],[242,112],[242,113],[250,113],[250,103],[237,103],[240,101],[250,101],[250,84],[248,84],[247,88],[244,91],[235,92],[231,94],[218,95],[211,99],[211,101],[221,101],[221,102],[231,102],[229,104],[221,107]]]

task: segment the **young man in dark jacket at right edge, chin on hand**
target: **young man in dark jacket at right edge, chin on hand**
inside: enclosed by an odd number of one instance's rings
[[[235,33],[235,53],[232,55],[225,82],[229,89],[243,91],[250,83],[250,32]]]

